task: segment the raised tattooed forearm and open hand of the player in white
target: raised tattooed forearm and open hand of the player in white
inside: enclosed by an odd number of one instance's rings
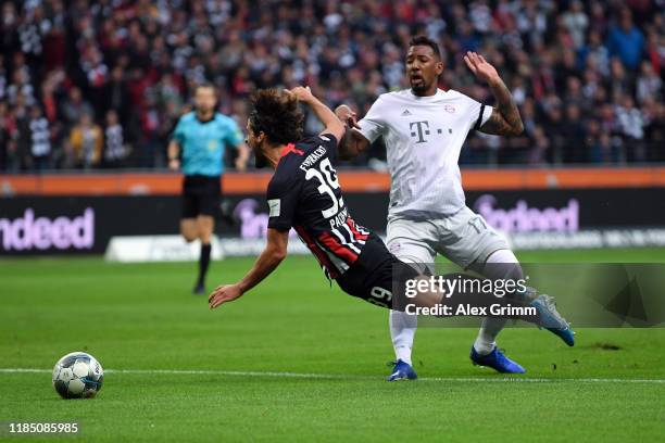
[[[505,86],[499,73],[485,58],[475,52],[467,52],[464,62],[474,75],[485,80],[497,100],[489,119],[480,126],[480,131],[499,136],[518,136],[524,130],[519,110],[513,100],[511,91]]]

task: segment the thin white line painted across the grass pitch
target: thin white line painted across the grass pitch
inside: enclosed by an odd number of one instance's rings
[[[50,369],[37,368],[0,368],[0,374],[48,374]],[[268,377],[268,378],[296,378],[296,379],[324,379],[324,380],[380,380],[380,376],[357,376],[342,374],[308,374],[308,372],[263,372],[241,370],[198,370],[198,369],[105,369],[109,374],[151,374],[151,375],[176,375],[176,376],[234,376],[234,377]],[[421,381],[455,381],[474,383],[665,383],[665,379],[618,379],[618,378],[472,378],[472,377],[421,377]]]

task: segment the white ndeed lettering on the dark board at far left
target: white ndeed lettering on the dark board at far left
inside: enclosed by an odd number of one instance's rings
[[[86,207],[78,217],[35,217],[32,207],[23,217],[0,218],[0,244],[5,251],[90,249],[95,244],[95,211]]]

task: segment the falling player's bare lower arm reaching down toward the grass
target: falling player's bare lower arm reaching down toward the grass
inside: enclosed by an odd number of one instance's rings
[[[286,258],[289,231],[268,228],[265,249],[256,258],[252,269],[235,284],[217,287],[209,296],[211,309],[242,296],[243,293],[262,282]]]

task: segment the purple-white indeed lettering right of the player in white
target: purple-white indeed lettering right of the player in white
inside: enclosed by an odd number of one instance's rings
[[[579,202],[568,200],[561,208],[529,207],[525,200],[517,201],[515,207],[502,210],[494,207],[494,195],[485,194],[476,200],[474,208],[485,217],[493,228],[504,232],[576,232],[579,229]]]

